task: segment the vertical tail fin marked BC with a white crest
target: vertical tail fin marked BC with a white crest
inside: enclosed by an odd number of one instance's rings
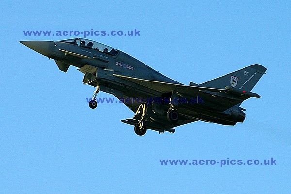
[[[264,66],[254,64],[214,80],[199,84],[199,86],[221,89],[225,89],[226,86],[229,86],[250,92],[259,79],[265,74],[266,70],[267,68]]]

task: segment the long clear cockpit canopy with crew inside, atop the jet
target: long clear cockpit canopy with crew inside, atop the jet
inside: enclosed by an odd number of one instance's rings
[[[88,49],[95,49],[100,52],[112,55],[112,56],[116,56],[119,52],[117,49],[114,49],[102,43],[98,43],[93,40],[88,40],[85,38],[73,38],[73,39],[61,40],[61,42],[78,45],[78,46],[88,48]]]

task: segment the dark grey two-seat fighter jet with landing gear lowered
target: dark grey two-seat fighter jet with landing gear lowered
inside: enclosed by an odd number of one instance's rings
[[[235,125],[245,119],[241,103],[260,96],[251,92],[266,68],[250,65],[202,84],[174,81],[132,56],[107,45],[73,38],[61,41],[20,41],[55,60],[61,71],[70,65],[84,74],[83,83],[96,87],[90,108],[97,107],[99,91],[113,94],[135,114],[121,120],[137,135],[147,129],[163,133],[194,121]]]

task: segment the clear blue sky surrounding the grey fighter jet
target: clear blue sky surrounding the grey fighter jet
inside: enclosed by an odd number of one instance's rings
[[[0,193],[289,193],[291,2],[2,2]],[[267,73],[236,126],[195,122],[138,137],[123,104],[88,107],[94,88],[28,49],[23,30],[140,30],[88,37],[163,74],[202,83],[248,65]],[[113,97],[100,93],[98,97]],[[160,159],[276,159],[277,165],[167,165]]]

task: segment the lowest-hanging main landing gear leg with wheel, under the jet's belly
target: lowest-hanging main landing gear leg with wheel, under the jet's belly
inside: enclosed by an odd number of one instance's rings
[[[147,104],[140,104],[139,108],[137,109],[135,115],[133,118],[135,118],[136,115],[141,114],[141,118],[138,121],[138,123],[134,127],[134,132],[138,136],[143,136],[146,134],[146,112],[147,112],[148,105]]]

